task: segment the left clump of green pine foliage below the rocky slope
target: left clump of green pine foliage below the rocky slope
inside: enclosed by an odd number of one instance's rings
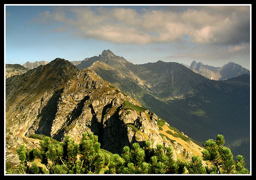
[[[16,150],[20,159],[20,174],[98,174],[109,164],[109,156],[100,150],[98,137],[83,133],[80,143],[66,136],[63,142],[53,143],[50,137],[39,142],[40,148]],[[78,158],[79,157],[79,158]],[[47,171],[32,163],[40,159]]]

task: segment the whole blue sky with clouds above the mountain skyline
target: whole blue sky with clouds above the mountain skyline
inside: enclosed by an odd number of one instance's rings
[[[251,70],[251,4],[5,4],[4,28],[6,64],[80,61],[109,49],[133,64]]]

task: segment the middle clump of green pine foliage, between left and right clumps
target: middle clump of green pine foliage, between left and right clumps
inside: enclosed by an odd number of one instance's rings
[[[123,148],[122,157],[118,154],[114,154],[114,156],[115,159],[123,159],[123,161],[119,160],[119,166],[115,166],[115,168],[111,163],[110,169],[106,170],[105,174],[117,172],[119,174],[185,173],[184,163],[174,160],[170,146],[163,147],[163,145],[158,144],[156,148],[152,148],[149,141],[146,141],[143,147],[140,147],[138,143],[133,143],[132,149],[128,146]]]

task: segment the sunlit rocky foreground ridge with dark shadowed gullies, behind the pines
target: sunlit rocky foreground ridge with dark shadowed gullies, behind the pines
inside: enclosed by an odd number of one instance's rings
[[[9,149],[15,138],[25,143],[38,134],[62,141],[69,135],[79,142],[84,132],[97,135],[101,148],[111,153],[146,140],[153,147],[172,146],[183,160],[200,156],[203,149],[95,71],[79,70],[64,59],[6,79]]]

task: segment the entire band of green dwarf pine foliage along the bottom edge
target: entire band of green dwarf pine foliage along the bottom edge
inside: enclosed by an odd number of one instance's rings
[[[40,140],[40,148],[26,149],[24,145],[16,149],[20,166],[19,174],[250,174],[245,168],[244,158],[238,155],[233,160],[231,150],[224,146],[225,139],[217,135],[216,140],[205,142],[202,157],[192,156],[182,162],[173,156],[170,146],[158,144],[153,148],[149,141],[141,147],[133,143],[123,147],[122,154],[106,153],[100,149],[98,137],[93,133],[83,133],[77,144],[70,136],[63,142],[53,142],[50,137]],[[40,159],[45,169],[34,160]],[[210,166],[203,161],[210,162]]]

